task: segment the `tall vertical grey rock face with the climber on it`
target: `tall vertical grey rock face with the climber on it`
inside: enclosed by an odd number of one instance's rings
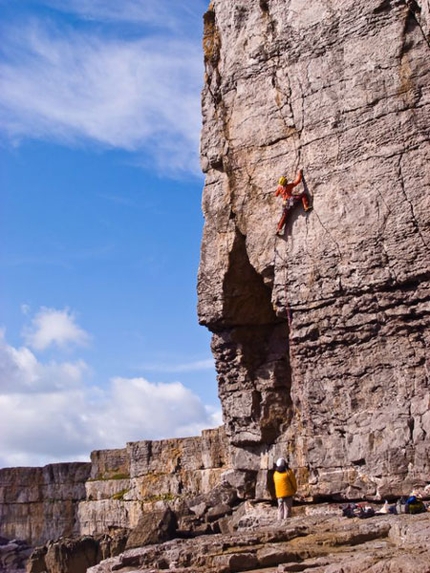
[[[428,0],[213,0],[203,47],[199,317],[236,468],[430,480]],[[298,167],[313,210],[278,237]]]

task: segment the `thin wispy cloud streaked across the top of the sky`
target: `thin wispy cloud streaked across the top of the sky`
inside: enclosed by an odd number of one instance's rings
[[[168,7],[71,4],[97,18],[125,17],[128,7],[129,18],[141,14],[160,24]],[[93,142],[149,154],[160,169],[198,172],[202,65],[196,40],[165,33],[120,39],[34,17],[3,25],[1,35],[3,137]]]

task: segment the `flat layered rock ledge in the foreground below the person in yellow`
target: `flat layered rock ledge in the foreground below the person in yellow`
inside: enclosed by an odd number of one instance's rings
[[[242,508],[243,509],[243,508]],[[296,510],[297,511],[297,510]],[[88,573],[428,573],[430,514],[339,518],[333,508],[276,522],[276,509],[242,511],[230,535],[175,539],[131,549]],[[321,511],[321,510],[320,510]]]

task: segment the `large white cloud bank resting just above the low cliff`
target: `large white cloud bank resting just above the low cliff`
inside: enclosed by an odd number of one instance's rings
[[[127,441],[199,435],[221,423],[182,383],[115,378],[91,387],[83,361],[38,361],[0,336],[0,467],[88,460]]]

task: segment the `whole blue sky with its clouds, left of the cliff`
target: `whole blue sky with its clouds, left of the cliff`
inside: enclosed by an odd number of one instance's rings
[[[221,423],[203,0],[0,0],[0,467]]]

